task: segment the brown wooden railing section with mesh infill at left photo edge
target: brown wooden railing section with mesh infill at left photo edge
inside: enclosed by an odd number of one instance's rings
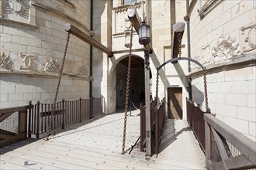
[[[27,108],[28,106],[0,110],[0,147],[26,138]]]

